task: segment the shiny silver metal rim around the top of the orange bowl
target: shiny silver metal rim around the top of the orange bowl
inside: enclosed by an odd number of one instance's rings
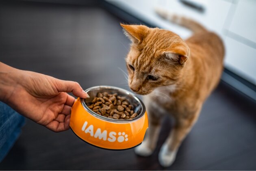
[[[87,107],[87,105],[85,104],[85,99],[81,98],[81,104],[82,106],[84,107],[84,109],[91,115],[93,115],[94,117],[97,117],[99,119],[102,119],[104,121],[110,121],[110,122],[114,122],[114,123],[130,123],[130,122],[134,122],[134,121],[137,121],[139,120],[141,117],[143,117],[145,115],[145,105],[143,104],[143,102],[135,96],[135,94],[131,93],[130,91],[127,91],[125,89],[121,89],[119,87],[113,87],[113,86],[94,86],[94,87],[91,87],[89,89],[86,89],[85,92],[88,93],[89,91],[93,90],[93,89],[100,89],[100,88],[105,88],[105,89],[114,89],[114,90],[119,90],[119,91],[123,91],[124,93],[126,93],[127,95],[132,95],[133,98],[135,98],[135,100],[137,100],[139,102],[139,104],[141,105],[141,112],[138,114],[137,117],[135,117],[134,119],[131,119],[131,120],[117,120],[117,119],[111,119],[111,118],[108,118],[108,117],[103,117],[101,115],[98,115],[97,113],[93,112],[91,109],[89,109]]]

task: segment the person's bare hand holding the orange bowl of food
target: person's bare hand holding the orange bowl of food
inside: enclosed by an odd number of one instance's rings
[[[5,87],[9,87],[9,93],[5,94],[3,101],[21,115],[54,132],[69,129],[71,107],[75,98],[66,92],[72,92],[81,98],[89,97],[77,82],[59,80],[31,71],[13,68],[7,78],[9,81],[5,82]]]

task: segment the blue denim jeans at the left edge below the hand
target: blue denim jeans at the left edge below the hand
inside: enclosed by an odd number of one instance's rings
[[[0,162],[18,139],[25,118],[7,104],[0,102]]]

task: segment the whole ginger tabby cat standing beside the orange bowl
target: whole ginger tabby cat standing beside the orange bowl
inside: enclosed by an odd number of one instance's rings
[[[224,47],[219,36],[191,19],[157,13],[194,34],[183,41],[169,30],[143,25],[125,25],[132,41],[126,63],[130,89],[143,96],[149,116],[149,129],[143,143],[135,149],[150,156],[158,140],[165,114],[175,119],[175,126],[161,147],[158,159],[170,166],[183,139],[197,121],[206,98],[219,83],[223,70]]]

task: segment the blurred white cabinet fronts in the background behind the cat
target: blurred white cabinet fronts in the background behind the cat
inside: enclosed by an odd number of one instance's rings
[[[179,0],[107,0],[139,19],[187,38],[191,32],[171,24],[154,13],[161,6],[200,22],[217,32],[226,46],[225,66],[256,84],[256,0],[193,0],[205,7],[200,13]],[[191,0],[192,1],[192,0]]]

